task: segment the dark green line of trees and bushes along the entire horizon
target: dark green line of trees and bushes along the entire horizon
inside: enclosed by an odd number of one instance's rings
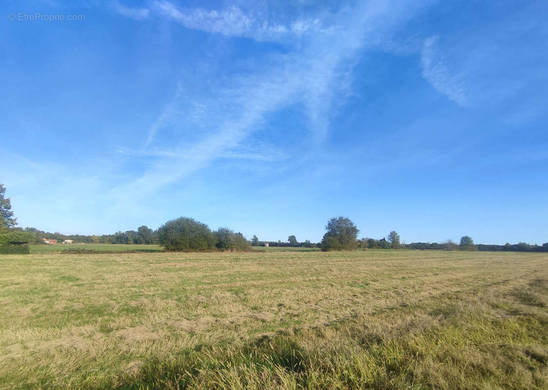
[[[548,252],[548,242],[543,245],[530,245],[526,242],[505,245],[474,244],[472,238],[463,236],[460,243],[448,240],[442,244],[437,242],[412,242],[402,244],[399,234],[392,230],[386,238],[380,240],[372,238],[357,239],[359,230],[347,217],[331,218],[326,225],[326,234],[322,242],[299,242],[294,235],[282,241],[259,241],[254,235],[248,241],[242,233],[236,233],[229,228],[210,230],[209,227],[192,218],[181,217],[168,221],[156,230],[142,225],[137,230],[117,231],[104,235],[81,235],[49,233],[36,228],[16,228],[17,219],[11,211],[9,197],[5,197],[5,188],[0,184],[0,245],[20,245],[25,242],[42,242],[42,239],[56,239],[58,241],[72,240],[86,244],[159,244],[167,250],[248,250],[251,246],[290,246],[290,247],[319,247],[323,251],[355,250],[357,248],[380,249],[419,249],[419,250],[469,250],[469,251],[519,251],[519,252]]]

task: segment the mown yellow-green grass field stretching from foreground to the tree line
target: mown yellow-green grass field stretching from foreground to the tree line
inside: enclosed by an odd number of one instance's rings
[[[0,256],[0,388],[546,389],[548,255]]]

